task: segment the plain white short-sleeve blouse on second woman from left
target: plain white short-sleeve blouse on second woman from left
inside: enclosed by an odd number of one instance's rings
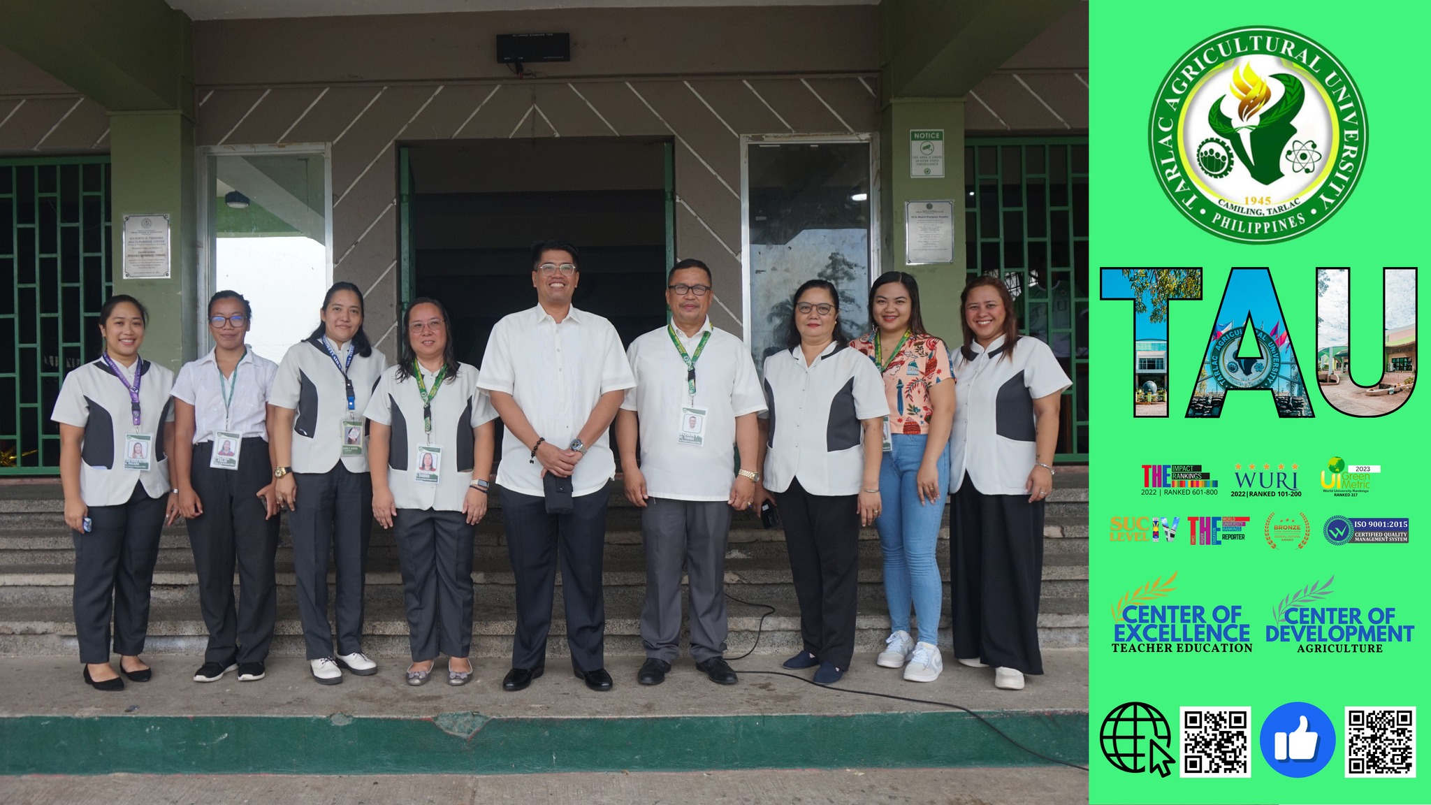
[[[219,374],[213,350],[179,370],[179,380],[175,381],[170,394],[175,400],[193,405],[195,444],[213,441],[218,431],[238,431],[243,438],[258,437],[268,441],[268,397],[273,388],[278,364],[249,350],[233,371],[229,378]],[[230,381],[233,400],[225,413],[223,392]]]

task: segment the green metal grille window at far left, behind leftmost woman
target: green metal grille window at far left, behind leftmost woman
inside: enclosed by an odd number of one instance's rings
[[[107,156],[0,159],[0,474],[59,473],[50,411],[99,354],[109,233]]]

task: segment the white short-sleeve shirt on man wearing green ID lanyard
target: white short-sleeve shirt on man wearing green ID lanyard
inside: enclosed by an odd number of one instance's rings
[[[694,338],[675,329],[685,354],[695,357],[701,334],[711,338],[695,360],[695,401],[685,381],[685,361],[671,344],[670,329],[658,328],[631,342],[627,358],[635,387],[621,408],[635,411],[641,431],[641,474],[645,491],[670,500],[730,500],[736,480],[736,417],[766,410],[756,361],[746,342],[705,324]],[[680,444],[681,408],[705,408],[701,444]]]

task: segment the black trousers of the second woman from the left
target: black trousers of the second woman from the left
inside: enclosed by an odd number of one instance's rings
[[[209,466],[212,441],[193,445],[189,481],[203,514],[187,521],[193,567],[199,574],[199,612],[209,627],[203,662],[263,662],[273,642],[278,592],[273,554],[278,551],[275,514],[268,520],[258,491],[273,481],[268,443],[243,440],[238,470]],[[233,603],[233,569],[238,564],[240,594]]]

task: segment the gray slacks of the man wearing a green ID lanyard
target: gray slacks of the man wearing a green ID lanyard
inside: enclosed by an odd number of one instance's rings
[[[648,498],[641,511],[645,547],[645,604],[641,645],[645,656],[671,662],[681,639],[681,566],[690,577],[691,657],[726,653],[726,543],[730,504],[724,500]]]

